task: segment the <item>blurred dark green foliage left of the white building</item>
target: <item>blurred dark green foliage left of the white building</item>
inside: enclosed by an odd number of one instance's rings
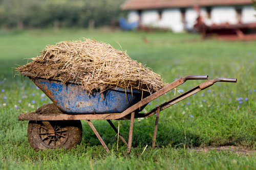
[[[123,0],[3,0],[0,1],[0,27],[45,28],[110,25],[118,20]]]

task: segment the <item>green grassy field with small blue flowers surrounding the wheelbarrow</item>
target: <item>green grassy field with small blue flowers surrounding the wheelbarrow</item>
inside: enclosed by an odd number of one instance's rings
[[[151,145],[155,116],[136,119],[133,146],[126,156],[109,124],[92,121],[111,155],[86,124],[81,145],[72,150],[35,152],[27,139],[28,122],[18,122],[20,113],[35,110],[50,100],[36,86],[19,76],[12,67],[26,64],[47,45],[82,37],[108,42],[146,64],[166,83],[187,75],[237,78],[235,83],[216,83],[161,112],[157,149]],[[145,42],[145,39],[147,42]],[[121,47],[119,46],[121,45]],[[256,149],[256,41],[201,40],[195,34],[120,32],[108,30],[0,30],[0,168],[1,169],[255,169],[256,155],[233,152],[196,152],[193,147],[234,145]],[[184,92],[203,81],[187,81]],[[151,102],[145,110],[174,97],[174,91]],[[118,122],[114,121],[117,125]],[[129,121],[120,122],[127,139]]]

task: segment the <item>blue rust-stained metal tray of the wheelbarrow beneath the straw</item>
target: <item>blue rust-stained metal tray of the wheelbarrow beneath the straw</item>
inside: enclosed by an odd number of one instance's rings
[[[89,92],[79,84],[59,80],[29,77],[50,100],[63,112],[69,114],[121,113],[130,106],[150,95],[149,92],[114,88],[103,92]],[[141,111],[146,105],[140,107]]]

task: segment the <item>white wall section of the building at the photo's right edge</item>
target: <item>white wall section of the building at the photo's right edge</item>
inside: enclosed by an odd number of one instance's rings
[[[242,23],[256,22],[256,10],[252,6],[245,6],[242,8]]]

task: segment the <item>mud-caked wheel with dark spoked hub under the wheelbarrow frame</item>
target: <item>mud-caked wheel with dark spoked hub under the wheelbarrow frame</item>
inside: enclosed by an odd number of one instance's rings
[[[70,149],[80,144],[80,120],[29,121],[28,140],[35,151],[45,149]]]

